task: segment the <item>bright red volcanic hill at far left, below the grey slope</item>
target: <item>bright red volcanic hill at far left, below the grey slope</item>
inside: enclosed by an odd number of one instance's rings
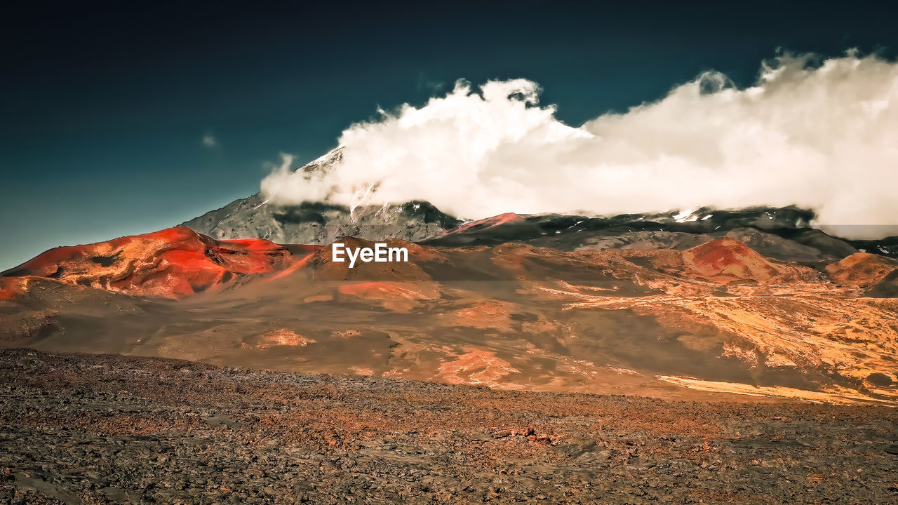
[[[267,240],[216,241],[178,226],[97,244],[57,247],[4,272],[143,297],[181,298],[296,259]],[[6,296],[4,286],[3,296]]]

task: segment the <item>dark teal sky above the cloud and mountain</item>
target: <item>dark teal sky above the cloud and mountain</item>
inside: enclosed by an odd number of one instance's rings
[[[0,270],[260,190],[378,109],[538,83],[579,127],[780,51],[894,60],[893,2],[34,2],[0,16]]]

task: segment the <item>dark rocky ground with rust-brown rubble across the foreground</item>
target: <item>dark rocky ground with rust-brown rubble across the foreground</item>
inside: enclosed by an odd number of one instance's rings
[[[0,351],[0,503],[895,503],[898,412]]]

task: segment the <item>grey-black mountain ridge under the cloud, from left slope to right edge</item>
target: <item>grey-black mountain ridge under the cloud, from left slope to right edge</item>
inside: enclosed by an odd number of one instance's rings
[[[343,156],[343,147],[338,146],[292,172],[310,179],[339,169]],[[450,246],[521,242],[567,251],[687,249],[729,236],[789,260],[839,260],[858,252],[898,259],[898,236],[850,240],[829,235],[814,227],[813,210],[796,206],[706,207],[617,216],[506,213],[465,221],[424,200],[376,205],[363,201],[350,207],[329,201],[277,203],[263,194],[236,199],[181,226],[217,240],[262,238],[278,244],[330,244],[341,236],[356,236]]]

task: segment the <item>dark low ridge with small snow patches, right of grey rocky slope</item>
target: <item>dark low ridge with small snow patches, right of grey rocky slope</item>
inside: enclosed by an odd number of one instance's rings
[[[466,223],[425,241],[433,245],[517,242],[563,251],[605,249],[684,250],[718,238],[748,244],[771,258],[814,262],[837,260],[864,247],[898,259],[898,237],[853,241],[811,226],[812,211],[795,208],[700,208],[613,217],[503,214]]]

